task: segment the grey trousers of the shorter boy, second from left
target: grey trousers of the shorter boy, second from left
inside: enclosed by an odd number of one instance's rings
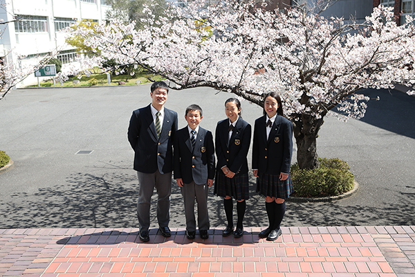
[[[183,195],[183,202],[185,203],[186,230],[196,231],[194,199],[197,202],[197,224],[199,230],[209,230],[208,185],[196,185],[192,181],[190,184],[183,184],[181,193]]]

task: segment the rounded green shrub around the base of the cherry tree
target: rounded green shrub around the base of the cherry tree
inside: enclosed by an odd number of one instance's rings
[[[347,193],[353,189],[353,174],[349,165],[340,159],[321,159],[320,168],[300,170],[291,166],[294,195],[297,197],[327,197]]]

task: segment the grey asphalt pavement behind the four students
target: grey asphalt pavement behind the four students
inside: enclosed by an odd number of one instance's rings
[[[18,89],[1,100],[0,149],[15,167],[0,174],[0,229],[138,226],[138,181],[127,127],[132,111],[149,104],[149,87]],[[365,118],[344,123],[327,117],[317,139],[320,157],[349,163],[358,192],[335,202],[290,202],[284,226],[415,224],[415,97],[364,93],[371,97]],[[201,105],[201,126],[214,132],[231,96],[208,88],[172,90],[166,107],[178,112],[179,127],[185,127],[187,105]],[[251,125],[261,114],[257,105],[242,102],[243,119]],[[252,175],[250,189],[245,225],[266,226],[264,200],[255,194]],[[222,203],[210,188],[212,228],[225,226]],[[155,213],[156,197],[152,227]],[[171,218],[170,226],[185,226],[175,182]]]

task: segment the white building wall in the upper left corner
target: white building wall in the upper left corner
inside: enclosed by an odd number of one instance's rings
[[[73,46],[64,43],[64,35],[55,30],[55,19],[93,19],[100,24],[105,21],[109,6],[101,5],[101,0],[87,3],[81,0],[0,0],[6,3],[6,10],[0,9],[0,19],[10,21],[13,15],[41,16],[47,18],[46,31],[24,33],[15,31],[15,23],[0,26],[3,35],[0,38],[0,57],[12,51],[6,60],[15,64],[35,64],[39,58],[35,55],[49,53],[55,49],[59,51],[74,50]],[[1,30],[0,29],[0,30]],[[18,55],[25,55],[19,60]],[[37,82],[34,74],[28,76],[18,87]]]

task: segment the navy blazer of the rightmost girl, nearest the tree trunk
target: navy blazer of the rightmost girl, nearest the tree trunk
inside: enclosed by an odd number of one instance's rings
[[[253,143],[253,169],[270,175],[290,173],[293,156],[293,123],[290,120],[277,115],[267,140],[266,116],[257,118]]]

